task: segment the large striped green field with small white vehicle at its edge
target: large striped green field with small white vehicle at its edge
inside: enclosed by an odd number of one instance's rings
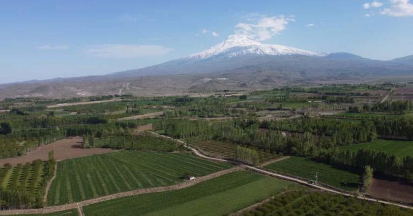
[[[187,153],[119,151],[58,162],[47,205],[61,205],[127,190],[175,185],[231,165]]]

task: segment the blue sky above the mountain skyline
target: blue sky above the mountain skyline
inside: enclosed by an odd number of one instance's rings
[[[0,83],[162,63],[239,24],[264,33],[262,43],[383,60],[413,54],[409,0],[0,0]]]

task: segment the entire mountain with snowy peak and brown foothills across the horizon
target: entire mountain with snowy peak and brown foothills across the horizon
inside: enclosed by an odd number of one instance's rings
[[[231,35],[200,53],[146,68],[104,76],[0,84],[0,99],[254,90],[292,83],[362,82],[395,76],[411,76],[413,81],[413,55],[382,61],[349,53],[326,54],[263,44]]]

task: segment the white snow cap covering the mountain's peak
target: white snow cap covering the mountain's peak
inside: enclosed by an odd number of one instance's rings
[[[193,54],[188,59],[206,59],[210,57],[231,58],[238,55],[306,55],[306,56],[325,56],[325,53],[315,53],[306,50],[286,47],[282,45],[262,44],[251,40],[245,35],[233,34],[223,42],[211,47],[198,54]]]

